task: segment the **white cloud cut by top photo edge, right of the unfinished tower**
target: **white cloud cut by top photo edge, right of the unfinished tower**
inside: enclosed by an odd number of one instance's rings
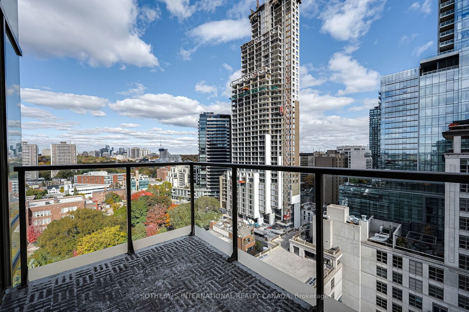
[[[371,23],[381,17],[386,0],[330,1],[319,18],[321,31],[337,40],[356,40],[370,30]]]

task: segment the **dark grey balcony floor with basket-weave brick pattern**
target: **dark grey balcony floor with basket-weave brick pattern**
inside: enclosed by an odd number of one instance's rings
[[[187,294],[212,298],[183,297]],[[0,311],[296,312],[310,308],[237,261],[228,263],[224,253],[197,236],[183,236],[8,290]]]

